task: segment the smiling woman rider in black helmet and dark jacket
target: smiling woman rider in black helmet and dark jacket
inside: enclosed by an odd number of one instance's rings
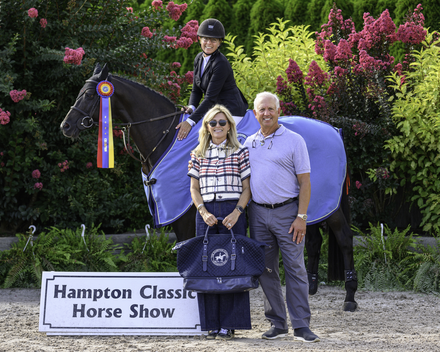
[[[206,19],[198,27],[197,40],[202,52],[194,59],[194,81],[189,104],[182,108],[191,116],[176,127],[180,128],[177,133],[179,140],[186,138],[192,126],[202,120],[215,104],[226,106],[239,119],[245,115],[249,106],[235,84],[231,64],[220,53],[224,34],[223,25],[215,18]]]

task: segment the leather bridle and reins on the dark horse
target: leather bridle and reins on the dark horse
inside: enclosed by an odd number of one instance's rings
[[[97,82],[97,81],[93,81],[93,80],[86,80],[86,83],[91,83],[92,85],[93,85],[93,84],[96,84],[96,85],[99,84],[99,82]],[[93,88],[93,87],[89,87],[89,88]],[[87,90],[87,89],[86,89],[86,90]],[[85,91],[84,91],[84,92],[85,92]],[[81,95],[78,96],[77,100],[80,98],[80,96],[81,96]],[[77,102],[77,100],[75,101],[75,103]],[[83,117],[83,119],[81,120],[81,124],[78,125],[78,123],[79,123],[80,120],[77,121],[77,127],[78,127],[80,130],[85,129],[85,128],[90,128],[90,127],[92,127],[93,125],[99,126],[99,122],[95,122],[95,121],[93,121],[93,118],[92,118],[93,114],[95,113],[96,108],[98,107],[98,103],[99,103],[99,101],[100,101],[100,99],[99,99],[99,96],[98,96],[98,99],[96,99],[95,103],[93,103],[92,108],[90,109],[89,113],[86,113],[84,110],[81,110],[80,108],[77,108],[76,106],[70,106],[70,110],[72,110],[72,109],[73,109],[73,110],[77,110],[77,111],[80,112],[81,114],[85,115],[85,117]],[[130,155],[130,156],[131,156],[133,159],[135,159],[136,161],[140,161],[140,162],[142,163],[142,165],[147,165],[147,164],[148,164],[148,158],[150,158],[150,156],[151,156],[151,154],[153,154],[154,150],[156,150],[156,148],[159,146],[159,144],[165,139],[166,135],[169,133],[169,131],[170,131],[172,125],[174,124],[174,121],[176,120],[176,115],[180,115],[180,114],[182,114],[182,111],[177,111],[177,107],[178,107],[178,106],[182,106],[182,107],[183,107],[183,105],[180,105],[180,104],[175,105],[175,107],[176,107],[176,112],[171,113],[171,114],[168,114],[168,115],[163,115],[163,116],[159,116],[159,117],[154,117],[154,118],[150,118],[150,119],[148,119],[148,120],[143,120],[143,121],[128,122],[128,123],[126,123],[126,124],[124,124],[124,123],[121,123],[121,124],[118,123],[118,124],[117,124],[117,125],[121,125],[121,126],[127,126],[126,128],[125,128],[125,127],[122,127],[122,128],[119,128],[119,127],[113,127],[113,129],[120,129],[120,130],[122,130],[122,136],[123,136],[123,139],[124,139],[124,147],[125,147],[125,150],[127,151],[127,154]],[[172,119],[172,121],[171,121],[171,124],[169,125],[169,127],[168,127],[165,131],[163,131],[163,134],[164,134],[164,135],[163,135],[162,138],[159,140],[159,142],[156,144],[156,146],[153,148],[153,150],[151,150],[150,153],[147,155],[147,158],[144,158],[143,155],[140,153],[140,151],[139,151],[140,159],[139,159],[139,158],[136,158],[136,157],[133,155],[133,153],[132,153],[132,151],[131,151],[132,147],[130,146],[130,127],[132,127],[133,125],[139,125],[139,124],[143,124],[143,123],[146,123],[146,122],[152,122],[152,121],[163,120],[164,118],[171,117],[171,116],[174,116],[173,119]],[[90,123],[90,125],[88,125],[88,126],[84,125],[84,119],[86,119],[86,118],[89,119],[88,122]],[[80,126],[82,126],[83,128],[81,128]],[[126,129],[127,129],[127,141],[128,141],[128,143],[125,143],[125,130],[126,130]],[[128,147],[127,147],[127,146],[128,146]],[[154,179],[153,179],[153,180],[154,180]],[[152,181],[153,181],[153,180],[152,180]],[[151,181],[151,183],[155,183],[155,182],[152,182],[152,181]]]

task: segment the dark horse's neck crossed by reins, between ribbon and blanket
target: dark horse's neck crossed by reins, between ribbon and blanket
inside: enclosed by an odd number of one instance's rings
[[[143,171],[147,174],[172,142],[180,113],[176,114],[174,104],[163,95],[141,84],[115,76],[113,83],[116,99],[112,104],[114,105],[114,114],[113,112],[112,114],[115,119],[132,125],[129,125],[131,127],[129,134],[141,153],[140,159],[149,158],[147,162],[143,162]],[[136,124],[141,121],[145,123]],[[114,125],[118,124],[114,123]],[[130,147],[126,146],[126,149],[128,154],[131,154]]]

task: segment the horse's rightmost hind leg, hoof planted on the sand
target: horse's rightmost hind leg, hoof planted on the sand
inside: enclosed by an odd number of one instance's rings
[[[346,295],[343,310],[345,312],[354,312],[358,307],[358,304],[355,301],[355,293],[358,283],[353,258],[353,233],[341,208],[337,209],[337,211],[327,218],[326,221],[333,230],[337,244],[339,245],[339,248],[341,248],[344,257]]]

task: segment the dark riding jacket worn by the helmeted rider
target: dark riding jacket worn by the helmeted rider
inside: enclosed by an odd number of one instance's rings
[[[244,116],[249,105],[235,84],[234,72],[226,57],[219,50],[214,52],[200,77],[202,62],[203,52],[194,59],[194,81],[188,105],[194,105],[196,110],[191,120],[197,123],[215,104],[226,106],[233,116]],[[205,98],[200,103],[203,94]]]

